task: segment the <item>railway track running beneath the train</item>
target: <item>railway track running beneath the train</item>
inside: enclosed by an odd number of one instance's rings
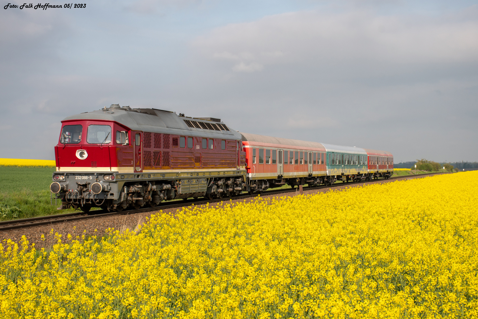
[[[385,180],[388,181],[388,180],[398,179],[398,178],[410,179],[410,178],[417,178],[419,176],[431,176],[431,175],[437,175],[437,174],[451,174],[451,173],[430,173],[430,174],[419,174],[419,175],[411,175],[411,176],[395,176],[395,177],[390,177],[388,179],[380,178],[380,179],[372,179],[370,181],[361,181],[361,182],[343,182],[343,183],[337,182],[331,186],[306,187],[305,190],[331,188],[331,187],[338,187],[343,185],[356,185],[356,184],[363,184],[363,183],[369,183],[374,181],[385,181]],[[192,204],[202,205],[206,203],[221,202],[221,201],[225,201],[229,199],[236,200],[236,199],[243,199],[243,198],[253,198],[259,195],[269,196],[274,194],[284,194],[284,193],[291,193],[291,192],[297,192],[297,191],[298,191],[297,188],[277,189],[277,190],[264,191],[261,194],[253,194],[253,195],[242,194],[232,198],[225,197],[225,198],[217,198],[212,200],[188,199],[188,200],[176,201],[173,204],[168,204],[168,205],[159,205],[156,207],[148,207],[148,208],[142,208],[142,209],[123,210],[120,212],[118,211],[109,212],[107,210],[101,209],[101,210],[90,211],[89,214],[85,212],[74,212],[74,213],[67,213],[67,214],[60,214],[60,215],[26,218],[21,220],[7,220],[7,221],[0,222],[0,231],[16,230],[16,229],[22,229],[22,228],[35,227],[35,226],[46,226],[46,225],[53,225],[53,224],[62,223],[62,222],[87,220],[92,218],[103,218],[103,217],[109,217],[109,216],[115,216],[115,215],[135,214],[135,213],[142,213],[142,212],[148,212],[148,211],[155,211],[159,209],[179,208],[179,207],[190,206]],[[91,214],[92,212],[95,212],[95,214],[94,215]]]

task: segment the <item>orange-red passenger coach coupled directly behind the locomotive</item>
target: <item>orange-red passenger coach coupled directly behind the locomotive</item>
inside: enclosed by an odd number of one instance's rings
[[[250,192],[285,184],[314,186],[326,179],[326,149],[321,143],[241,134]]]

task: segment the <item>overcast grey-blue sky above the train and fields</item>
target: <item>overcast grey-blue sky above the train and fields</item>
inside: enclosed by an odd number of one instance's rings
[[[4,2],[0,157],[54,159],[61,120],[119,103],[478,161],[476,1]]]

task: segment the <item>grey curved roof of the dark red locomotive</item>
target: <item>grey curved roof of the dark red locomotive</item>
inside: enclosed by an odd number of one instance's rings
[[[183,114],[184,115],[184,114]],[[210,119],[210,120],[205,120]],[[222,122],[220,131],[214,129],[202,129],[190,127],[186,121],[203,122],[209,124],[217,123],[218,119],[213,118],[190,118],[179,116],[174,112],[156,109],[130,109],[129,107],[120,107],[119,105],[111,105],[109,108],[96,110],[92,112],[85,112],[81,114],[71,115],[65,118],[64,121],[81,121],[81,120],[101,120],[101,121],[115,121],[123,126],[126,126],[133,131],[155,132],[178,135],[194,135],[201,137],[224,138],[231,140],[240,140],[241,134],[235,130],[222,129],[225,126]],[[193,125],[194,126],[194,125]],[[197,125],[199,126],[199,125]],[[206,126],[206,125],[202,125]]]

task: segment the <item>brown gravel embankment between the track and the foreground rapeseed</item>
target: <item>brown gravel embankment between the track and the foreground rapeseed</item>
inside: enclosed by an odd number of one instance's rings
[[[368,184],[374,184],[374,183],[388,183],[388,182],[394,182],[397,180],[403,180],[403,179],[411,179],[411,178],[420,178],[424,176],[403,176],[398,179],[392,179],[392,180],[377,180],[377,181],[370,181],[367,183],[361,183],[361,184],[347,184],[344,183],[344,185],[336,186],[336,187],[325,187],[325,188],[308,188],[304,187],[304,194],[315,194],[315,193],[323,193],[327,192],[330,189],[344,189],[345,187],[361,187],[364,185]],[[264,195],[261,196],[261,198],[270,198],[270,197],[281,197],[281,196],[294,196],[296,193],[283,193],[283,194],[274,194],[274,195]],[[243,201],[244,199],[236,199],[232,200],[232,203],[236,203],[237,201]],[[247,199],[248,201],[250,198]],[[224,199],[226,202],[227,199]],[[216,205],[216,203],[214,203]],[[173,209],[165,209],[163,210],[163,213],[174,213],[178,209],[173,208]],[[138,224],[138,221],[144,222],[146,217],[150,217],[152,214],[156,214],[160,211],[160,209],[156,211],[150,211],[150,212],[145,212],[145,213],[134,213],[134,214],[128,214],[128,215],[118,215],[118,216],[110,216],[110,217],[101,217],[98,216],[97,218],[90,219],[90,220],[80,220],[80,221],[71,221],[71,222],[65,222],[62,224],[53,224],[51,226],[36,226],[36,227],[30,227],[27,229],[20,229],[20,230],[11,230],[11,231],[0,231],[0,241],[3,243],[4,240],[11,239],[15,242],[20,242],[22,235],[25,235],[27,240],[30,242],[30,244],[35,243],[35,247],[37,249],[39,248],[50,248],[56,241],[54,239],[54,236],[51,235],[51,230],[53,229],[53,232],[57,232],[62,235],[62,241],[65,242],[66,236],[68,234],[72,235],[72,238],[75,239],[76,236],[81,236],[83,234],[88,235],[98,235],[101,237],[105,231],[108,228],[114,228],[114,229],[120,229],[121,227],[127,228],[130,230],[134,230],[136,225]],[[42,235],[44,235],[45,240],[42,240]]]

